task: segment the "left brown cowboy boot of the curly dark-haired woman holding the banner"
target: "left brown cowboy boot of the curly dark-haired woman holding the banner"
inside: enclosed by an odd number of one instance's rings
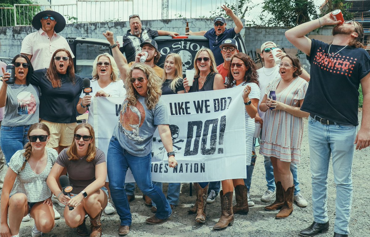
[[[240,185],[241,186],[241,185]],[[220,191],[221,196],[221,217],[218,222],[213,226],[214,230],[223,229],[232,226],[234,223],[234,213],[232,207],[232,192],[227,192],[223,194],[223,191]],[[248,206],[248,202],[247,202]]]

